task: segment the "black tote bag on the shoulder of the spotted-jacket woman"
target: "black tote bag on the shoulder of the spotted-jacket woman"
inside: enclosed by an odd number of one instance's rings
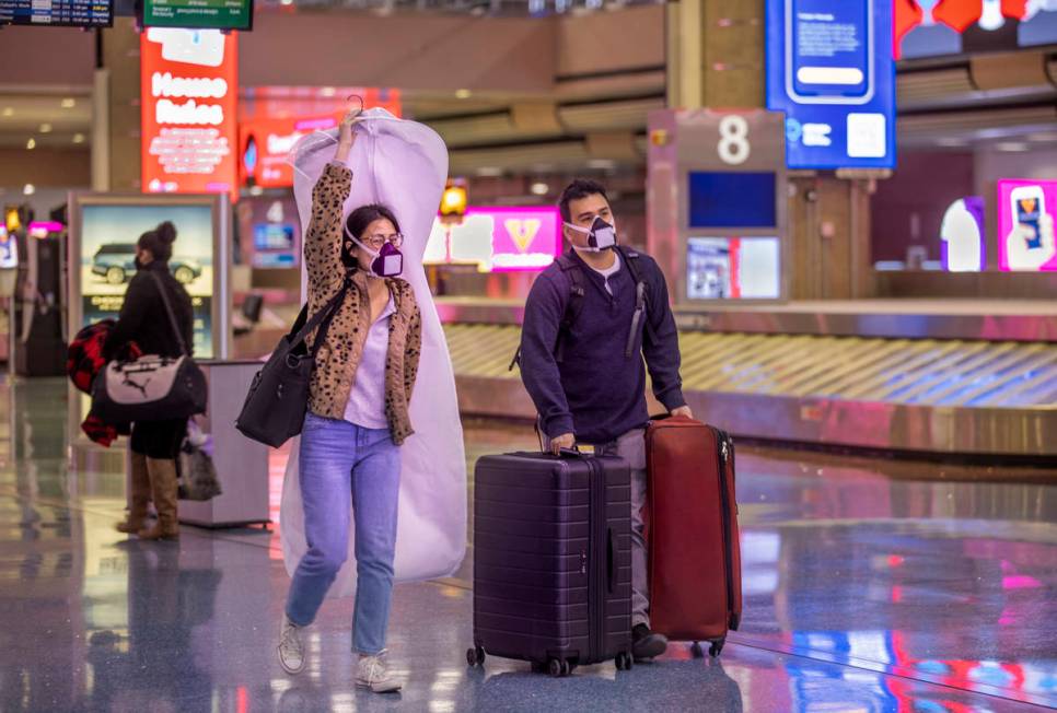
[[[271,356],[253,377],[246,401],[235,421],[235,428],[243,435],[278,448],[301,433],[309,409],[309,384],[315,369],[315,355],[351,284],[347,279],[341,290],[311,319],[307,318],[309,306],[301,308],[293,329],[279,340]],[[310,351],[304,341],[316,327],[320,330]]]

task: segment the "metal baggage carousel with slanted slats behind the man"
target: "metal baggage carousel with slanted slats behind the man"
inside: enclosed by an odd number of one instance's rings
[[[534,418],[509,370],[523,306],[439,302],[463,413]],[[676,318],[687,401],[737,436],[1057,463],[1057,305],[802,302]]]

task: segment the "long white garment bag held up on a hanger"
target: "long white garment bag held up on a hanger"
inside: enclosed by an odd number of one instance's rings
[[[429,127],[369,109],[355,127],[356,143],[347,165],[352,192],[345,215],[367,203],[383,203],[396,214],[404,233],[404,274],[422,312],[422,352],[410,402],[415,434],[402,447],[399,523],[396,538],[396,580],[446,576],[458,569],[466,552],[466,456],[448,342],[426,280],[422,256],[448,178],[448,148]],[[291,154],[293,190],[307,232],[312,189],[334,160],[337,129],[301,139]],[[303,270],[303,268],[302,268]],[[302,285],[307,280],[302,272]],[[304,297],[305,287],[302,287]],[[304,510],[298,472],[300,440],[295,441],[282,487],[281,539],[287,572],[292,576],[307,550]],[[328,596],[356,591],[355,530],[349,531],[349,557]]]

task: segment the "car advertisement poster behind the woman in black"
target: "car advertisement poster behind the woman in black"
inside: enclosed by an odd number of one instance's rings
[[[82,208],[80,282],[82,326],[116,319],[136,274],[136,242],[163,221],[176,226],[169,269],[190,295],[195,355],[213,356],[213,214],[208,204],[86,204]]]

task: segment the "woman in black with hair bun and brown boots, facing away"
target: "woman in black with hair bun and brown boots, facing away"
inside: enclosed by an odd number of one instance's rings
[[[176,227],[164,222],[140,235],[136,244],[136,274],[125,293],[121,314],[103,344],[103,355],[109,361],[128,342],[135,341],[144,354],[181,356],[181,346],[191,348],[194,315],[190,296],[169,269],[173,256]],[[179,337],[159,291],[165,290]],[[187,431],[186,419],[143,421],[132,425],[131,506],[128,519],[117,526],[118,531],[138,535],[140,539],[158,540],[179,537],[176,518],[176,456]],[[158,522],[144,528],[147,504],[153,498]]]

